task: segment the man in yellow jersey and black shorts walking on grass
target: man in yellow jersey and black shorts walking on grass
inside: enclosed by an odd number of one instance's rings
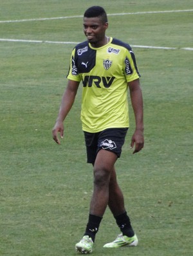
[[[60,144],[57,134],[63,137],[63,121],[82,81],[82,130],[87,162],[93,164],[94,182],[86,231],[75,248],[80,253],[91,253],[107,206],[122,233],[104,247],[138,244],[125,211],[124,196],[116,181],[115,162],[120,157],[129,128],[128,88],[136,121],[131,148],[134,147],[133,153],[143,148],[143,99],[133,51],[128,44],[106,36],[105,10],[100,6],[88,8],[83,26],[87,41],[75,46],[71,54],[68,85],[53,128],[53,139]]]

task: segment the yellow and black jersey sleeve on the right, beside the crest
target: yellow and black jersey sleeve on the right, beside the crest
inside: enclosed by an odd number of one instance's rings
[[[140,73],[138,72],[136,59],[132,49],[126,50],[124,59],[124,73],[127,83],[136,80],[140,77]]]

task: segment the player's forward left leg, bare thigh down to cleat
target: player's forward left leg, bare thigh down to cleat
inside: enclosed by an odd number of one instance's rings
[[[95,235],[109,202],[109,181],[117,156],[113,152],[100,150],[94,164],[94,189],[90,204],[89,221],[84,237],[75,246],[81,253],[91,253]]]

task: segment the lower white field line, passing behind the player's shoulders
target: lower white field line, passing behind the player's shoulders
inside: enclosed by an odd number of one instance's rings
[[[80,42],[62,42],[62,41],[41,41],[41,40],[25,40],[25,39],[6,39],[0,38],[0,42],[21,42],[21,43],[49,43],[49,44],[78,44]],[[149,48],[149,49],[163,49],[163,50],[190,50],[190,47],[164,47],[164,46],[147,46],[147,45],[132,45],[133,48]]]

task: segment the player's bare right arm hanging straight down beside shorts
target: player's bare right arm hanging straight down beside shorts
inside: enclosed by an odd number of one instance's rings
[[[140,81],[136,79],[128,83],[130,96],[131,96],[131,104],[133,106],[134,117],[136,128],[131,139],[131,148],[134,148],[133,153],[137,153],[143,148],[144,137],[143,137],[143,97],[142,90],[140,88]]]

